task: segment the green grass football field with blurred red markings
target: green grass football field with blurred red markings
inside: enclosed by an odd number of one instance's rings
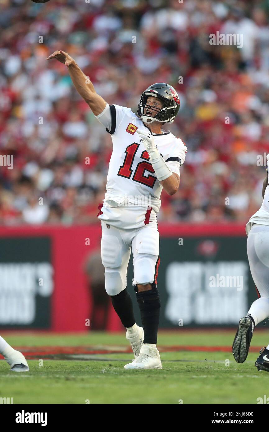
[[[10,372],[7,363],[0,360],[0,397],[13,397],[14,403],[178,404],[182,400],[184,404],[256,404],[258,397],[269,397],[269,373],[258,372],[254,366],[259,350],[250,352],[243,364],[234,361],[231,350],[214,351],[231,346],[234,331],[160,332],[163,369],[149,371],[123,370],[133,358],[126,352],[124,333],[1,336],[21,349],[27,359],[36,351],[35,359],[28,360],[30,372]],[[253,347],[260,349],[268,343],[268,330],[254,333]],[[205,352],[201,351],[203,346],[207,347]],[[46,355],[43,347],[48,347]],[[64,347],[71,347],[69,354],[63,353]],[[85,354],[83,349],[95,353]]]

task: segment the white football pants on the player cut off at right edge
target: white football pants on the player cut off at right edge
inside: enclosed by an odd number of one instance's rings
[[[247,237],[247,256],[253,281],[260,298],[252,303],[249,314],[255,325],[269,317],[269,226],[253,224]]]

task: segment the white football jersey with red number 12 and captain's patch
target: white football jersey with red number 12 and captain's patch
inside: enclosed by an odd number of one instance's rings
[[[158,213],[161,205],[162,186],[136,132],[137,129],[148,132],[149,128],[130,108],[119,105],[107,105],[96,118],[111,133],[113,143],[107,191],[102,214],[98,217],[113,226],[138,228],[145,222],[146,211],[152,208]],[[163,131],[154,135],[154,142],[171,171],[180,175],[179,168],[187,153],[183,141],[170,131]],[[127,213],[123,214],[123,209]],[[130,209],[131,212],[128,212]],[[115,220],[112,214],[121,220]]]

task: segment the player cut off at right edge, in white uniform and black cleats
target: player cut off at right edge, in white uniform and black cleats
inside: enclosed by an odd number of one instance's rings
[[[250,306],[246,317],[241,318],[233,343],[234,359],[243,363],[248,354],[253,330],[269,317],[269,154],[266,163],[266,178],[263,181],[263,203],[247,222],[247,256],[250,271],[259,298]],[[255,363],[258,370],[269,372],[269,345],[260,350]]]

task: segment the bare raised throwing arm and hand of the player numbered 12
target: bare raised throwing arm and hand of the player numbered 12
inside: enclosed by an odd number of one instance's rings
[[[56,59],[65,64],[68,68],[69,75],[76,87],[77,92],[89,105],[94,115],[99,115],[104,111],[107,102],[95,92],[95,88],[89,77],[82,72],[75,60],[64,51],[55,51],[47,60]]]

